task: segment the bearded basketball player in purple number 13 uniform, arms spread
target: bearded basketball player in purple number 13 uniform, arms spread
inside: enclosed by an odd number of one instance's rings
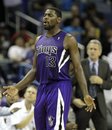
[[[77,42],[73,36],[59,28],[61,20],[59,9],[46,9],[43,26],[47,32],[36,39],[32,69],[23,80],[14,86],[8,86],[4,92],[5,95],[12,96],[35,78],[40,82],[34,112],[37,130],[65,130],[72,95],[68,75],[70,59],[87,111],[95,108],[93,99],[88,95]]]

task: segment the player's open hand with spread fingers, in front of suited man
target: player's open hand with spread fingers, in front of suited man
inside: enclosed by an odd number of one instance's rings
[[[94,99],[89,96],[89,95],[86,95],[84,97],[84,102],[86,103],[87,107],[86,107],[86,111],[90,111],[92,112],[93,109],[96,109],[96,105],[94,103]]]

